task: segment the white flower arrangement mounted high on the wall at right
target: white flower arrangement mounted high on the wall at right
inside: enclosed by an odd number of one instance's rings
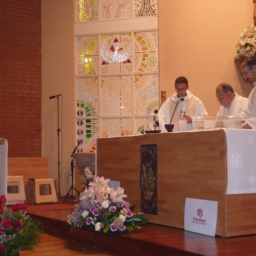
[[[251,25],[244,29],[244,32],[239,36],[240,40],[236,43],[237,62],[241,62],[244,57],[253,57],[256,52],[256,28]]]

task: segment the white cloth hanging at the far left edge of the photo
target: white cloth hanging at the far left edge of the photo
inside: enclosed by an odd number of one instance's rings
[[[5,195],[7,198],[7,157],[8,142],[0,138],[0,196]]]

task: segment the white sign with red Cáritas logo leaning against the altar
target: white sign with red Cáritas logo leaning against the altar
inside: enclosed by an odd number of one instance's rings
[[[184,230],[215,236],[218,202],[186,198]]]

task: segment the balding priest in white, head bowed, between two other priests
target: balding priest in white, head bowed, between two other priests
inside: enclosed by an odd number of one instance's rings
[[[217,86],[216,97],[222,105],[216,116],[239,116],[239,113],[248,106],[248,99],[235,93],[227,83]]]

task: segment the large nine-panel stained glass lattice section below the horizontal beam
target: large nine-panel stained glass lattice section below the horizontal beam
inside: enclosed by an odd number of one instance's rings
[[[94,151],[97,137],[144,134],[159,108],[157,30],[77,36],[76,57],[78,151]]]

